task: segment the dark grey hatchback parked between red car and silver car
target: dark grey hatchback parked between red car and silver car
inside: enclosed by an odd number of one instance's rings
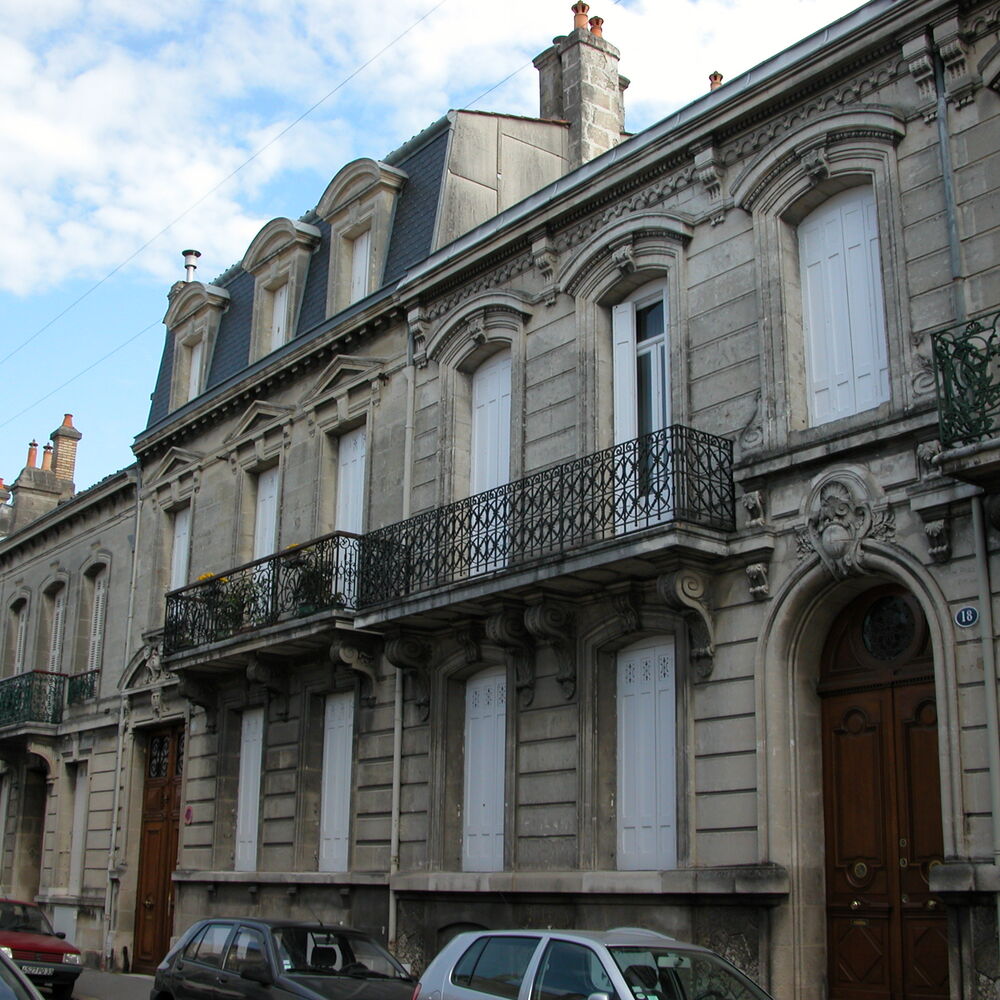
[[[280,920],[200,920],[157,966],[150,1000],[410,1000],[414,980],[373,937]]]

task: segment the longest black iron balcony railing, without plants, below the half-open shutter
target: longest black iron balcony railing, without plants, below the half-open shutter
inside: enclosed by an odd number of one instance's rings
[[[674,521],[732,531],[733,448],[674,426],[369,532],[358,606]]]

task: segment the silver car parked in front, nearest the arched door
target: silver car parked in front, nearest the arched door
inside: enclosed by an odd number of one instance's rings
[[[769,1000],[707,948],[653,931],[466,931],[413,1000]]]

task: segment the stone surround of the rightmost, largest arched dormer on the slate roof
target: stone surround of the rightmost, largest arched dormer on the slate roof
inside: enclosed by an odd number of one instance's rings
[[[327,316],[352,304],[353,241],[366,231],[371,234],[368,292],[381,284],[396,197],[406,179],[402,170],[364,158],[347,164],[323,192],[316,214],[330,225]]]

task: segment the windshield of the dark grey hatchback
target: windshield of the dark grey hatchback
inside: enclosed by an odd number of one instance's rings
[[[284,972],[358,978],[409,979],[376,941],[318,927],[276,927],[274,945]]]

